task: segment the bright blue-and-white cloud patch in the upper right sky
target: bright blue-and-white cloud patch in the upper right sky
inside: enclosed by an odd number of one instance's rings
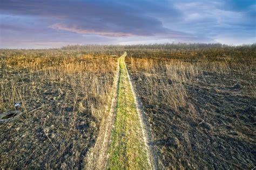
[[[239,40],[238,34],[255,37],[255,17],[253,5],[244,10],[232,10],[226,1],[177,2],[174,5],[183,11],[184,18],[176,29],[208,38],[232,34],[233,40]],[[221,42],[221,41],[220,41]]]

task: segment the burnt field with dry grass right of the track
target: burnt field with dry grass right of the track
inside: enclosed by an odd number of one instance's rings
[[[159,167],[255,166],[255,51],[140,51],[126,62]]]

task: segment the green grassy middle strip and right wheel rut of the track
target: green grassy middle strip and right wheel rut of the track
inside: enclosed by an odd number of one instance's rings
[[[110,169],[151,169],[136,101],[125,65],[126,52],[119,58],[116,116],[108,151]]]

